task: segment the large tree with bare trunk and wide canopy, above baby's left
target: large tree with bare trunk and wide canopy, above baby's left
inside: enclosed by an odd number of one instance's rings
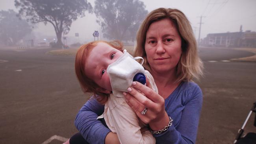
[[[57,46],[62,46],[62,33],[67,34],[70,26],[78,17],[84,17],[85,11],[92,12],[87,0],[15,0],[19,8],[19,17],[26,17],[32,23],[48,22],[54,26]]]

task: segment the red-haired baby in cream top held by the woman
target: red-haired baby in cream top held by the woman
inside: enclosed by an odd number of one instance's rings
[[[114,64],[115,66],[118,66],[118,63],[121,64],[124,56],[132,57],[126,51],[122,52],[122,44],[118,41],[94,41],[84,44],[76,54],[76,76],[83,92],[93,92],[95,98],[100,103],[105,104],[104,114],[99,117],[104,116],[107,126],[113,133],[117,133],[121,144],[155,144],[156,140],[150,131],[141,133],[140,129],[146,124],[139,120],[132,108],[126,103],[122,92],[118,90],[119,85],[126,87],[127,83],[119,84],[119,79],[110,73],[110,67],[113,68]],[[132,59],[132,61],[134,60]],[[135,65],[137,64],[139,63],[135,61]],[[139,64],[139,66],[141,65]],[[142,70],[144,72],[143,67]],[[117,71],[112,69],[113,73],[117,73]],[[144,74],[149,79],[152,89],[158,92],[151,74],[147,70]],[[128,87],[130,86],[128,85]],[[146,108],[144,112],[147,112]],[[142,114],[145,113],[142,112]]]

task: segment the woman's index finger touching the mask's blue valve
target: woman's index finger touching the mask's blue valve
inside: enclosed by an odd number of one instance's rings
[[[141,91],[141,92],[143,92],[146,96],[147,96],[147,98],[149,98],[150,100],[152,100],[153,102],[156,102],[156,103],[160,103],[160,102],[162,102],[162,97],[159,95],[159,94],[157,94],[154,90],[152,90],[152,89],[150,89],[149,87],[146,87],[145,85],[142,85],[141,83],[138,83],[138,82],[132,82],[132,86],[135,88],[135,89],[137,89],[137,90],[139,90],[139,91]],[[128,88],[129,89],[129,88]],[[130,92],[131,93],[131,92]],[[135,92],[134,92],[135,93]],[[132,93],[131,93],[132,94]],[[132,95],[134,95],[134,94],[132,94]],[[139,100],[140,101],[140,100]],[[140,101],[141,102],[141,101]]]

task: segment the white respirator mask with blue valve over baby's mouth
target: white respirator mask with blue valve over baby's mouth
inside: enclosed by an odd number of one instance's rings
[[[132,85],[133,81],[138,81],[143,85],[146,83],[145,70],[142,66],[142,57],[132,57],[126,50],[123,51],[117,61],[111,63],[107,68],[110,84],[114,96],[123,97],[123,92]],[[142,63],[135,61],[142,59]]]

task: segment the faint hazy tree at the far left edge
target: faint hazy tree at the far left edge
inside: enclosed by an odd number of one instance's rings
[[[19,19],[17,14],[12,9],[0,11],[0,40],[7,46],[15,45],[32,31],[28,22]]]

